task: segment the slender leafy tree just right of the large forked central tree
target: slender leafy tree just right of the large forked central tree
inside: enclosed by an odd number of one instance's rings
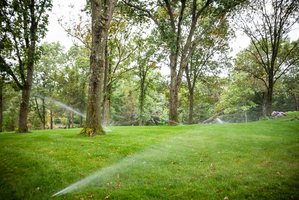
[[[184,77],[187,80],[189,90],[189,120],[193,124],[193,99],[194,89],[198,79],[208,82],[210,74],[216,75],[221,69],[229,66],[228,52],[231,31],[227,20],[222,20],[218,27],[213,28],[207,34],[191,55],[189,63],[185,67]],[[184,85],[184,84],[183,84]]]

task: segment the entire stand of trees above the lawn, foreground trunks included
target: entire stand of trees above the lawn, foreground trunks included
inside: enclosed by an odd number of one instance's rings
[[[102,124],[193,124],[217,113],[254,121],[279,106],[298,110],[299,40],[288,38],[297,1],[91,0],[78,19],[60,19],[79,41],[67,52],[39,45],[51,1],[18,2],[1,1],[0,122],[4,113],[19,133],[28,121],[45,129],[57,118],[93,136]],[[232,61],[237,29],[251,42]]]

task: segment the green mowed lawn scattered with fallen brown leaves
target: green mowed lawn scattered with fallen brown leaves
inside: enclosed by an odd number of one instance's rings
[[[0,199],[299,199],[298,114],[94,138],[1,133]]]

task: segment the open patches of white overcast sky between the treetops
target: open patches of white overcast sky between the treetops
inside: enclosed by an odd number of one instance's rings
[[[49,13],[49,25],[46,37],[41,42],[60,42],[62,46],[68,50],[72,45],[73,41],[71,37],[68,37],[65,30],[59,25],[58,18],[62,16],[65,17],[64,21],[73,18],[71,13],[78,13],[86,4],[85,0],[53,0],[52,12]],[[74,8],[70,8],[69,5],[72,4]],[[242,36],[241,31],[237,31],[237,37],[235,40],[231,41],[231,48],[233,51],[230,53],[231,56],[235,56],[240,50],[245,49],[249,45],[249,38]],[[297,24],[294,31],[289,34],[291,40],[296,40],[299,37],[299,25]],[[169,75],[170,69],[168,67],[162,67],[161,73],[163,75]]]

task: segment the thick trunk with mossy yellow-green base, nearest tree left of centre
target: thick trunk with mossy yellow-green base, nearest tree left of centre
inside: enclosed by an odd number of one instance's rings
[[[91,0],[91,54],[86,123],[78,134],[103,134],[101,95],[105,69],[105,46],[112,14],[118,0]]]

